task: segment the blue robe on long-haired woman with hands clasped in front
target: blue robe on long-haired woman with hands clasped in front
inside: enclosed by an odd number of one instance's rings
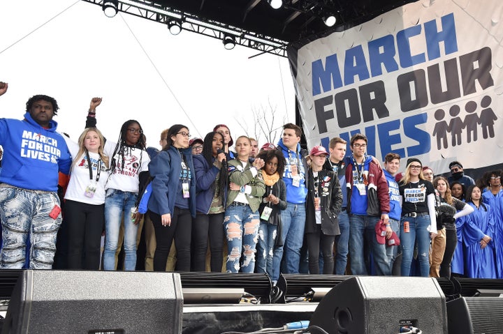
[[[477,208],[468,203],[474,212],[466,215],[462,226],[462,240],[465,243],[466,275],[469,278],[497,278],[495,261],[495,219],[493,208],[480,205]],[[486,248],[481,248],[480,241],[484,236],[493,240]]]

